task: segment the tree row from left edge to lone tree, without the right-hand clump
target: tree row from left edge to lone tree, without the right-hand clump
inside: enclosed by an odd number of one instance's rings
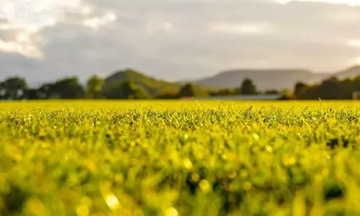
[[[85,85],[77,77],[66,77],[55,82],[45,83],[38,88],[30,88],[22,77],[9,77],[0,82],[0,100],[35,99],[176,99],[196,96],[231,96],[276,94],[276,91],[259,92],[251,79],[245,79],[240,88],[203,90],[195,84],[187,83],[170,92],[149,92],[142,85],[131,80],[107,84],[96,75],[91,76]]]

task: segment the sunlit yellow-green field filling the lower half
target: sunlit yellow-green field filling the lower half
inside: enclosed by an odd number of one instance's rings
[[[0,216],[358,216],[353,101],[0,103]]]

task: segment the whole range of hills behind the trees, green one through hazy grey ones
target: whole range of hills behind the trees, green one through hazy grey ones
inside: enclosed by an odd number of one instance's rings
[[[339,72],[313,72],[306,69],[241,69],[219,72],[216,75],[198,80],[187,80],[170,82],[151,77],[143,72],[132,69],[117,71],[105,78],[105,84],[111,85],[114,82],[130,80],[141,85],[150,94],[175,93],[185,83],[193,83],[198,92],[208,92],[217,89],[239,88],[242,81],[250,78],[258,90],[292,90],[296,82],[306,84],[319,83],[326,78],[336,76],[339,79],[353,78],[360,75],[360,66],[354,66]],[[85,83],[84,83],[85,84]],[[33,84],[32,86],[40,86]]]

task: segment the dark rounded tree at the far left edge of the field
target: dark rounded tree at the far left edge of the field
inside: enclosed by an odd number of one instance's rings
[[[24,98],[24,92],[28,88],[26,80],[21,77],[10,77],[0,83],[1,99],[19,100]]]

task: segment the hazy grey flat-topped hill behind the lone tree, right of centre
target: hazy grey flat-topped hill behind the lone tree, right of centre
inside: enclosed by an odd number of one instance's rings
[[[259,90],[292,89],[296,82],[319,81],[327,74],[302,69],[291,70],[232,70],[215,76],[197,80],[196,83],[217,88],[237,88],[242,80],[250,78]]]

